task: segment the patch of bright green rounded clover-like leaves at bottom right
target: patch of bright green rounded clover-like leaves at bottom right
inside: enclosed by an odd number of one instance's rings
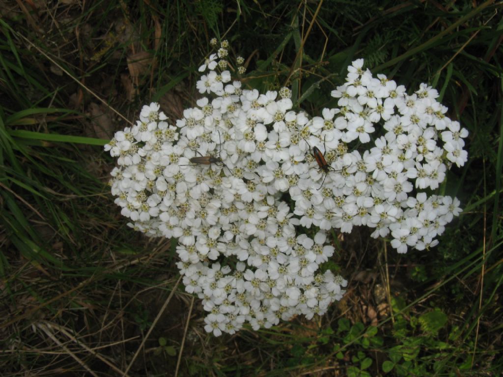
[[[351,324],[348,319],[340,318],[337,331],[326,333],[333,339],[332,352],[336,359],[351,360],[348,375],[377,375],[380,370],[387,375],[429,376],[445,371],[450,358],[459,359],[460,370],[466,368],[466,355],[473,344],[460,342],[459,328],[453,327],[448,333],[441,331],[448,326],[447,315],[440,309],[404,315],[405,307],[403,299],[394,300],[396,315],[391,332],[384,330],[390,326],[389,322],[366,327],[361,322]],[[383,333],[388,336],[383,337]],[[380,358],[380,365],[375,365],[376,350],[386,355],[384,360]],[[455,352],[459,352],[459,357]]]

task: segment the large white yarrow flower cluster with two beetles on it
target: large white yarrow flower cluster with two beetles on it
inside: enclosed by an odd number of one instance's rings
[[[467,131],[445,117],[435,89],[422,84],[408,96],[360,59],[332,91],[339,108],[310,118],[291,110],[288,88],[241,88],[227,55],[224,41],[200,67],[206,97],[176,127],[152,103],[105,146],[117,157],[111,186],[121,214],[149,236],[178,239],[177,265],[209,312],[208,332],[309,319],[340,300],[346,280],[320,268],[334,252],[332,228],[375,228],[398,252],[438,243],[459,201],[412,196],[413,186],[436,189],[452,163],[466,161]]]

